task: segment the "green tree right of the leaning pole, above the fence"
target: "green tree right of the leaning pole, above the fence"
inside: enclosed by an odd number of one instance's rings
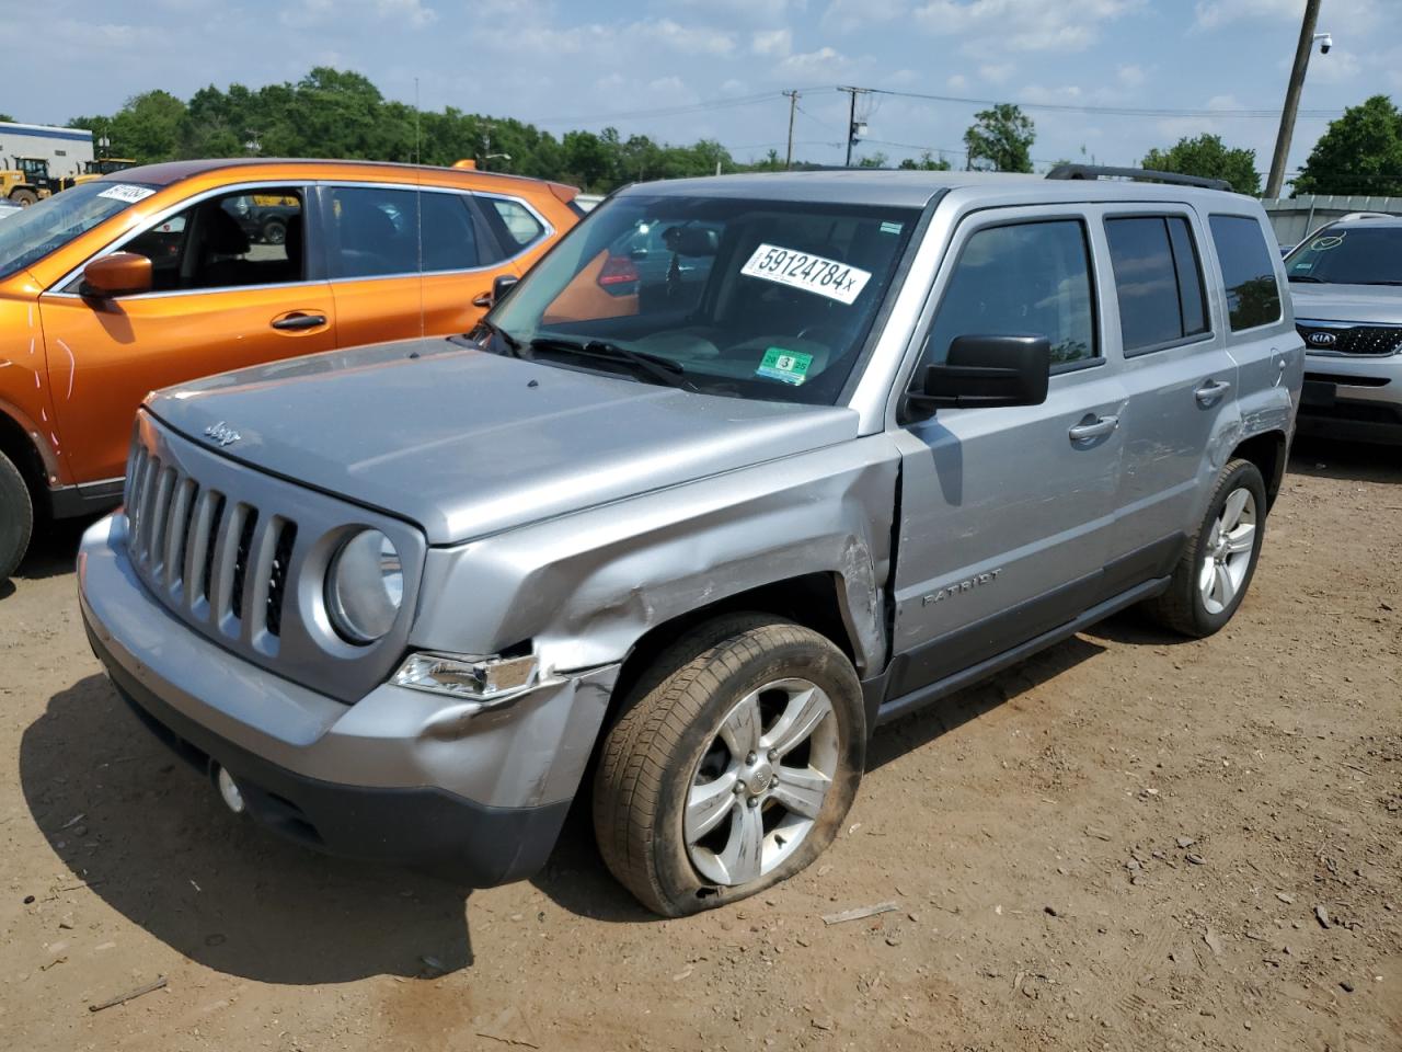
[[[1297,194],[1402,196],[1402,111],[1387,95],[1349,107],[1309,151]]]

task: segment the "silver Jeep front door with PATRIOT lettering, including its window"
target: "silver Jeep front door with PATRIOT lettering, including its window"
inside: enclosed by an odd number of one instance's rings
[[[920,367],[959,335],[1039,335],[1042,405],[939,410],[903,449],[889,692],[917,690],[1073,620],[1102,596],[1124,389],[1103,353],[1085,219],[1009,209],[951,247]]]

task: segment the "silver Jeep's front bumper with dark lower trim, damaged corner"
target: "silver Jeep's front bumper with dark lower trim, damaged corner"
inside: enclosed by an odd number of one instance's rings
[[[390,685],[346,706],[177,620],[132,569],[121,513],[83,537],[79,599],[121,694],[196,764],[227,769],[255,819],[331,854],[449,868],[475,886],[544,864],[618,670],[475,713]]]

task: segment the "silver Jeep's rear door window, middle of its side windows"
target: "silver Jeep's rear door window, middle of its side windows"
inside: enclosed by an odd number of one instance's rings
[[[1126,356],[1207,331],[1193,233],[1182,216],[1106,219]]]

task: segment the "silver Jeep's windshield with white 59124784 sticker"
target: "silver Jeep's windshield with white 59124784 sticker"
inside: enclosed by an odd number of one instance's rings
[[[474,337],[499,353],[646,383],[833,404],[918,217],[903,208],[615,198]]]

